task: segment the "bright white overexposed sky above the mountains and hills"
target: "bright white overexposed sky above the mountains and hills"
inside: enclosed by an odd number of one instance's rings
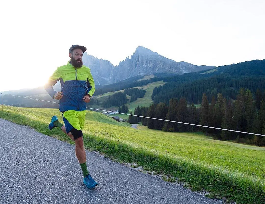
[[[73,44],[118,63],[144,46],[177,62],[265,58],[264,0],[3,1],[0,91],[46,83]]]

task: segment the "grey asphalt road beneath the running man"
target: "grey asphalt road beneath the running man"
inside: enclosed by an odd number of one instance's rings
[[[3,119],[0,138],[0,203],[222,203],[89,151],[87,189],[73,145]]]

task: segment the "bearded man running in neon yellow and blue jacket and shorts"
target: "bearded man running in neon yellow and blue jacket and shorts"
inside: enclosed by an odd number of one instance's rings
[[[69,49],[71,58],[67,65],[58,67],[48,83],[45,90],[52,98],[59,99],[59,110],[63,114],[64,125],[53,116],[48,128],[59,127],[75,142],[76,157],[83,171],[83,182],[87,188],[94,188],[98,185],[95,182],[86,166],[86,152],[83,145],[82,129],[85,124],[86,103],[95,92],[95,83],[90,69],[83,65],[82,57],[86,51],[84,46],[73,45]],[[56,92],[52,86],[61,82],[61,91]]]

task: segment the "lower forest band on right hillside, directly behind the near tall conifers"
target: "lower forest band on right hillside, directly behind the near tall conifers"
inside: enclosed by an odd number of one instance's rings
[[[236,99],[241,87],[255,92],[257,89],[265,89],[265,76],[240,76],[228,77],[227,75],[215,76],[208,79],[197,80],[191,83],[177,84],[174,82],[155,87],[152,93],[154,103],[169,103],[170,98],[184,96],[190,103],[201,103],[202,95],[207,98],[217,97],[218,93],[226,98]]]

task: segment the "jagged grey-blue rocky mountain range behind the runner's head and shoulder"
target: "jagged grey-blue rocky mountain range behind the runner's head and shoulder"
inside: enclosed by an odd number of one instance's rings
[[[175,62],[142,46],[136,48],[135,53],[120,62],[118,66],[114,66],[108,60],[88,55],[86,52],[83,54],[83,64],[91,69],[96,85],[110,84],[137,75],[153,73],[182,75],[215,68],[215,66],[197,66],[183,61]]]

